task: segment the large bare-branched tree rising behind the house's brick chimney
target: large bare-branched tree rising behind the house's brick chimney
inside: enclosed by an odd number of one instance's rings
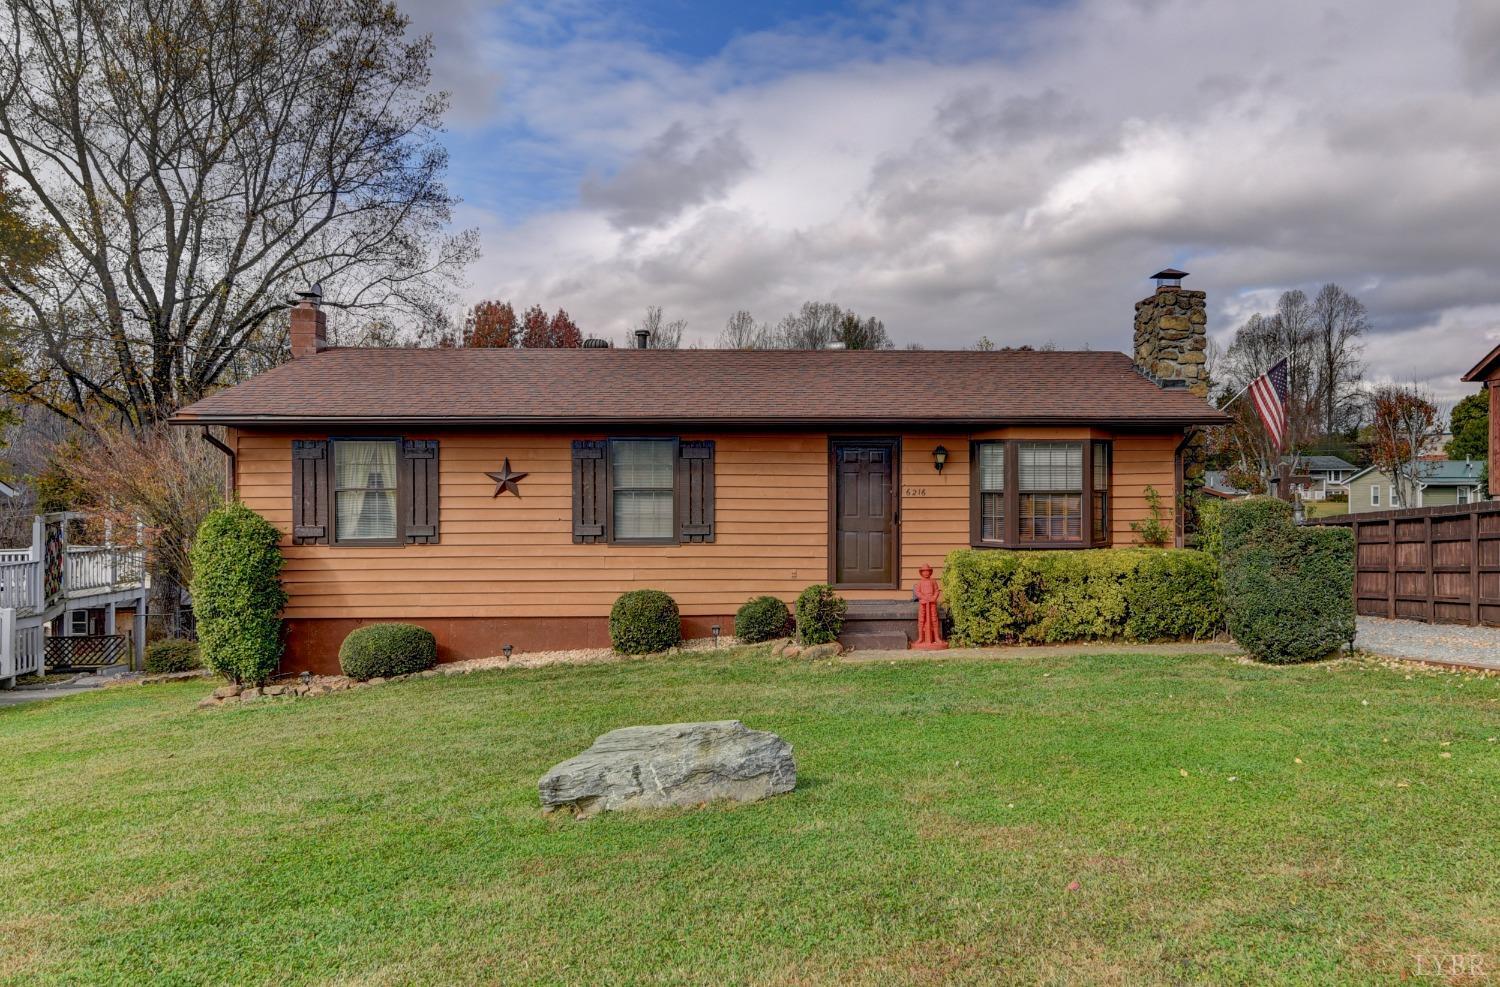
[[[20,390],[142,428],[286,350],[286,294],[423,320],[476,236],[429,39],[376,0],[0,0],[0,174],[58,242]]]

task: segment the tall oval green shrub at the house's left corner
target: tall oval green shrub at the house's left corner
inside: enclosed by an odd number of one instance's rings
[[[243,504],[210,512],[194,537],[192,600],[202,663],[258,686],[280,664],[280,531]]]

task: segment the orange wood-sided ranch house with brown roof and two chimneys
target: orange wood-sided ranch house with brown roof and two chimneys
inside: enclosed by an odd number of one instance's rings
[[[686,636],[831,582],[910,600],[948,552],[1168,530],[1203,292],[1137,306],[1136,358],[1059,351],[345,350],[315,300],[280,368],[182,410],[226,426],[237,496],[286,532],[285,670],[370,621],[440,657],[592,646],[627,590]],[[1180,531],[1179,531],[1180,538]]]

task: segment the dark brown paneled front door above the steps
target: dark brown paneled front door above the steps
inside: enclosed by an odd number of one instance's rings
[[[896,450],[897,440],[832,442],[836,585],[896,585]]]

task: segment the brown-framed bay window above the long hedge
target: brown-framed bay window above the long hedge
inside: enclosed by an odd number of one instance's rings
[[[1110,442],[976,441],[970,462],[974,544],[1108,543]]]

